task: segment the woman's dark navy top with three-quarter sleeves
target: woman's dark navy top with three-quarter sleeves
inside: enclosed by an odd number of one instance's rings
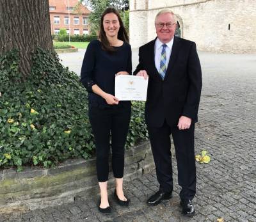
[[[97,84],[100,89],[115,95],[115,75],[120,71],[132,72],[131,45],[124,42],[115,47],[115,52],[103,51],[99,40],[93,40],[88,45],[81,69],[81,82],[88,91],[89,106],[113,107],[106,100],[93,93],[92,86]],[[120,101],[117,106],[130,104],[130,101]]]

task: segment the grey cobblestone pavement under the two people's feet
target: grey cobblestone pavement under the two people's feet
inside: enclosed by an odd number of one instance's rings
[[[155,172],[126,182],[131,206],[119,207],[109,192],[113,213],[102,216],[97,197],[77,196],[74,203],[13,214],[0,221],[256,221],[256,55],[200,53],[202,102],[196,124],[195,150],[207,150],[209,164],[196,163],[196,215],[186,218],[179,207],[177,167],[173,198],[148,207],[158,189]],[[173,163],[175,159],[173,159]]]

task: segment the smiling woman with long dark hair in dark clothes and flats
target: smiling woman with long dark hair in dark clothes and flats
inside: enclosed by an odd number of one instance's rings
[[[120,15],[107,8],[100,19],[99,40],[90,42],[84,55],[81,82],[88,90],[89,118],[95,137],[100,212],[111,212],[108,202],[108,156],[111,134],[114,197],[129,205],[123,191],[124,145],[131,118],[131,102],[115,97],[115,76],[131,74],[131,45]]]

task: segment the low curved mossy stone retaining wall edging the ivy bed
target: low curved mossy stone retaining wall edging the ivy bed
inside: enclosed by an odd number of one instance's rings
[[[0,214],[42,209],[73,202],[74,198],[99,192],[95,159],[71,159],[56,168],[26,168],[0,171]],[[111,164],[109,164],[109,167]],[[126,150],[124,180],[140,177],[154,169],[150,143]],[[114,186],[113,174],[109,187]]]

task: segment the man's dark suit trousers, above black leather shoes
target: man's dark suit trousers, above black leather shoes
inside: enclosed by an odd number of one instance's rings
[[[186,130],[179,130],[177,126],[170,127],[166,121],[162,127],[148,126],[157,180],[160,190],[164,192],[173,191],[172,154],[170,151],[170,134],[172,134],[177,159],[178,182],[181,186],[180,198],[183,200],[192,200],[196,193],[194,132],[194,123]]]

